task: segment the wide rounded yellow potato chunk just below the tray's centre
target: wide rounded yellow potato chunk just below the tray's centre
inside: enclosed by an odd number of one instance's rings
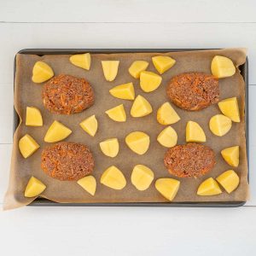
[[[127,146],[137,154],[145,154],[148,151],[150,138],[142,131],[133,131],[125,137]]]

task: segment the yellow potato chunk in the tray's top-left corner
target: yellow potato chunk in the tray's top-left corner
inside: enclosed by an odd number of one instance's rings
[[[54,72],[48,64],[43,61],[37,61],[32,70],[32,81],[40,84],[54,76]]]

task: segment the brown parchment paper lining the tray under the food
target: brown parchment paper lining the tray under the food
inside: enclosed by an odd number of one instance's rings
[[[162,75],[163,81],[160,88],[144,93],[140,89],[139,79],[133,79],[128,73],[128,68],[133,61],[149,61],[148,70],[156,72],[151,57],[154,55],[170,55],[176,59],[176,65]],[[31,203],[34,198],[24,197],[26,183],[31,176],[38,177],[43,181],[47,189],[41,195],[57,202],[166,202],[166,199],[154,188],[154,182],[159,177],[173,177],[170,175],[163,164],[163,156],[166,148],[162,147],[156,137],[165,126],[156,121],[156,111],[163,102],[168,101],[166,97],[166,84],[172,76],[186,72],[204,72],[211,73],[211,61],[214,55],[225,55],[239,67],[246,61],[246,49],[214,49],[190,52],[171,52],[171,53],[125,53],[125,54],[92,54],[90,71],[73,66],[69,59],[70,55],[22,55],[18,54],[16,58],[16,76],[15,76],[15,109],[20,116],[19,127],[15,131],[14,146],[11,160],[11,170],[9,178],[9,189],[4,199],[4,209],[25,206]],[[102,60],[119,60],[119,72],[113,82],[107,82],[102,73]],[[43,84],[32,83],[32,67],[36,61],[45,61],[53,68],[55,75],[64,73],[87,79],[93,87],[96,95],[94,106],[82,113],[76,113],[70,116],[57,115],[49,113],[44,108],[41,91]],[[131,101],[125,101],[114,98],[108,93],[108,90],[118,84],[133,82],[136,95],[145,96],[152,104],[154,112],[143,118],[131,118]],[[220,113],[218,104],[206,108],[200,112],[187,112],[176,106],[173,106],[181,120],[172,127],[177,131],[178,144],[185,143],[185,127],[189,120],[198,122],[207,136],[207,146],[213,148],[217,164],[212,172],[199,178],[187,177],[178,178],[181,181],[175,202],[200,202],[200,201],[246,201],[248,195],[247,183],[247,154],[245,140],[245,84],[239,73],[227,79],[219,80],[220,100],[227,97],[236,96],[238,98],[241,123],[232,123],[232,128],[224,137],[217,137],[209,130],[208,122],[212,115]],[[123,103],[127,113],[125,123],[117,123],[109,119],[106,110]],[[41,110],[44,119],[43,127],[26,126],[26,106],[37,107]],[[98,131],[96,137],[90,137],[79,126],[79,123],[92,114],[96,114],[98,119]],[[97,188],[96,195],[89,195],[76,182],[61,182],[47,176],[40,167],[42,149],[48,145],[44,143],[44,135],[49,125],[58,120],[72,129],[73,133],[67,137],[66,141],[84,143],[88,145],[95,157],[96,166],[93,175],[96,177]],[[10,127],[11,129],[11,127]],[[150,147],[148,152],[143,155],[137,155],[125,144],[125,136],[131,131],[144,131],[150,136]],[[28,159],[24,159],[19,151],[18,142],[20,137],[26,133],[30,134],[39,143],[40,148]],[[115,158],[109,158],[102,154],[99,143],[107,138],[117,137],[119,139],[119,154]],[[240,146],[240,165],[231,167],[225,163],[221,157],[220,151],[230,146]],[[133,166],[143,164],[154,171],[154,182],[145,191],[138,191],[131,184],[131,171]],[[108,166],[117,166],[125,175],[127,185],[125,189],[114,190],[100,183],[102,172]],[[241,178],[240,185],[236,191],[230,195],[226,192],[215,196],[199,196],[196,190],[199,184],[207,177],[217,177],[220,173],[233,169]],[[174,177],[177,178],[177,177]]]

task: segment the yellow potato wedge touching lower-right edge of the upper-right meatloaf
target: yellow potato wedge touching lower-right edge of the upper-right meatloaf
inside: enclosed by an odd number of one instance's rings
[[[240,122],[240,113],[236,97],[225,99],[218,102],[218,108],[227,117],[229,117],[233,122]]]

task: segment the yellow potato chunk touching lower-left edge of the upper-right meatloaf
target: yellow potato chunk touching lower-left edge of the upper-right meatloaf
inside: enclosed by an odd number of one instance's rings
[[[172,125],[180,120],[177,112],[169,102],[165,102],[157,111],[156,119],[161,125]]]

